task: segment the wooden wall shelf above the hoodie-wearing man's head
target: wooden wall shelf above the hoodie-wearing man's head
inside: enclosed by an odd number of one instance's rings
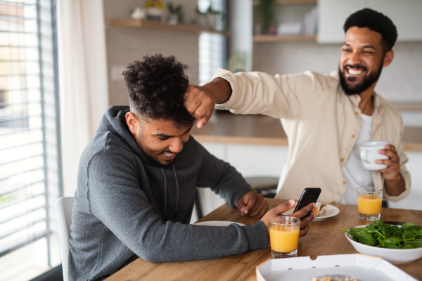
[[[195,25],[169,25],[166,22],[155,22],[152,20],[110,20],[108,22],[109,27],[132,27],[141,28],[144,30],[159,30],[164,32],[185,32],[200,34],[202,32],[212,32],[218,34],[224,34],[217,30],[212,30],[205,27],[197,27]]]

